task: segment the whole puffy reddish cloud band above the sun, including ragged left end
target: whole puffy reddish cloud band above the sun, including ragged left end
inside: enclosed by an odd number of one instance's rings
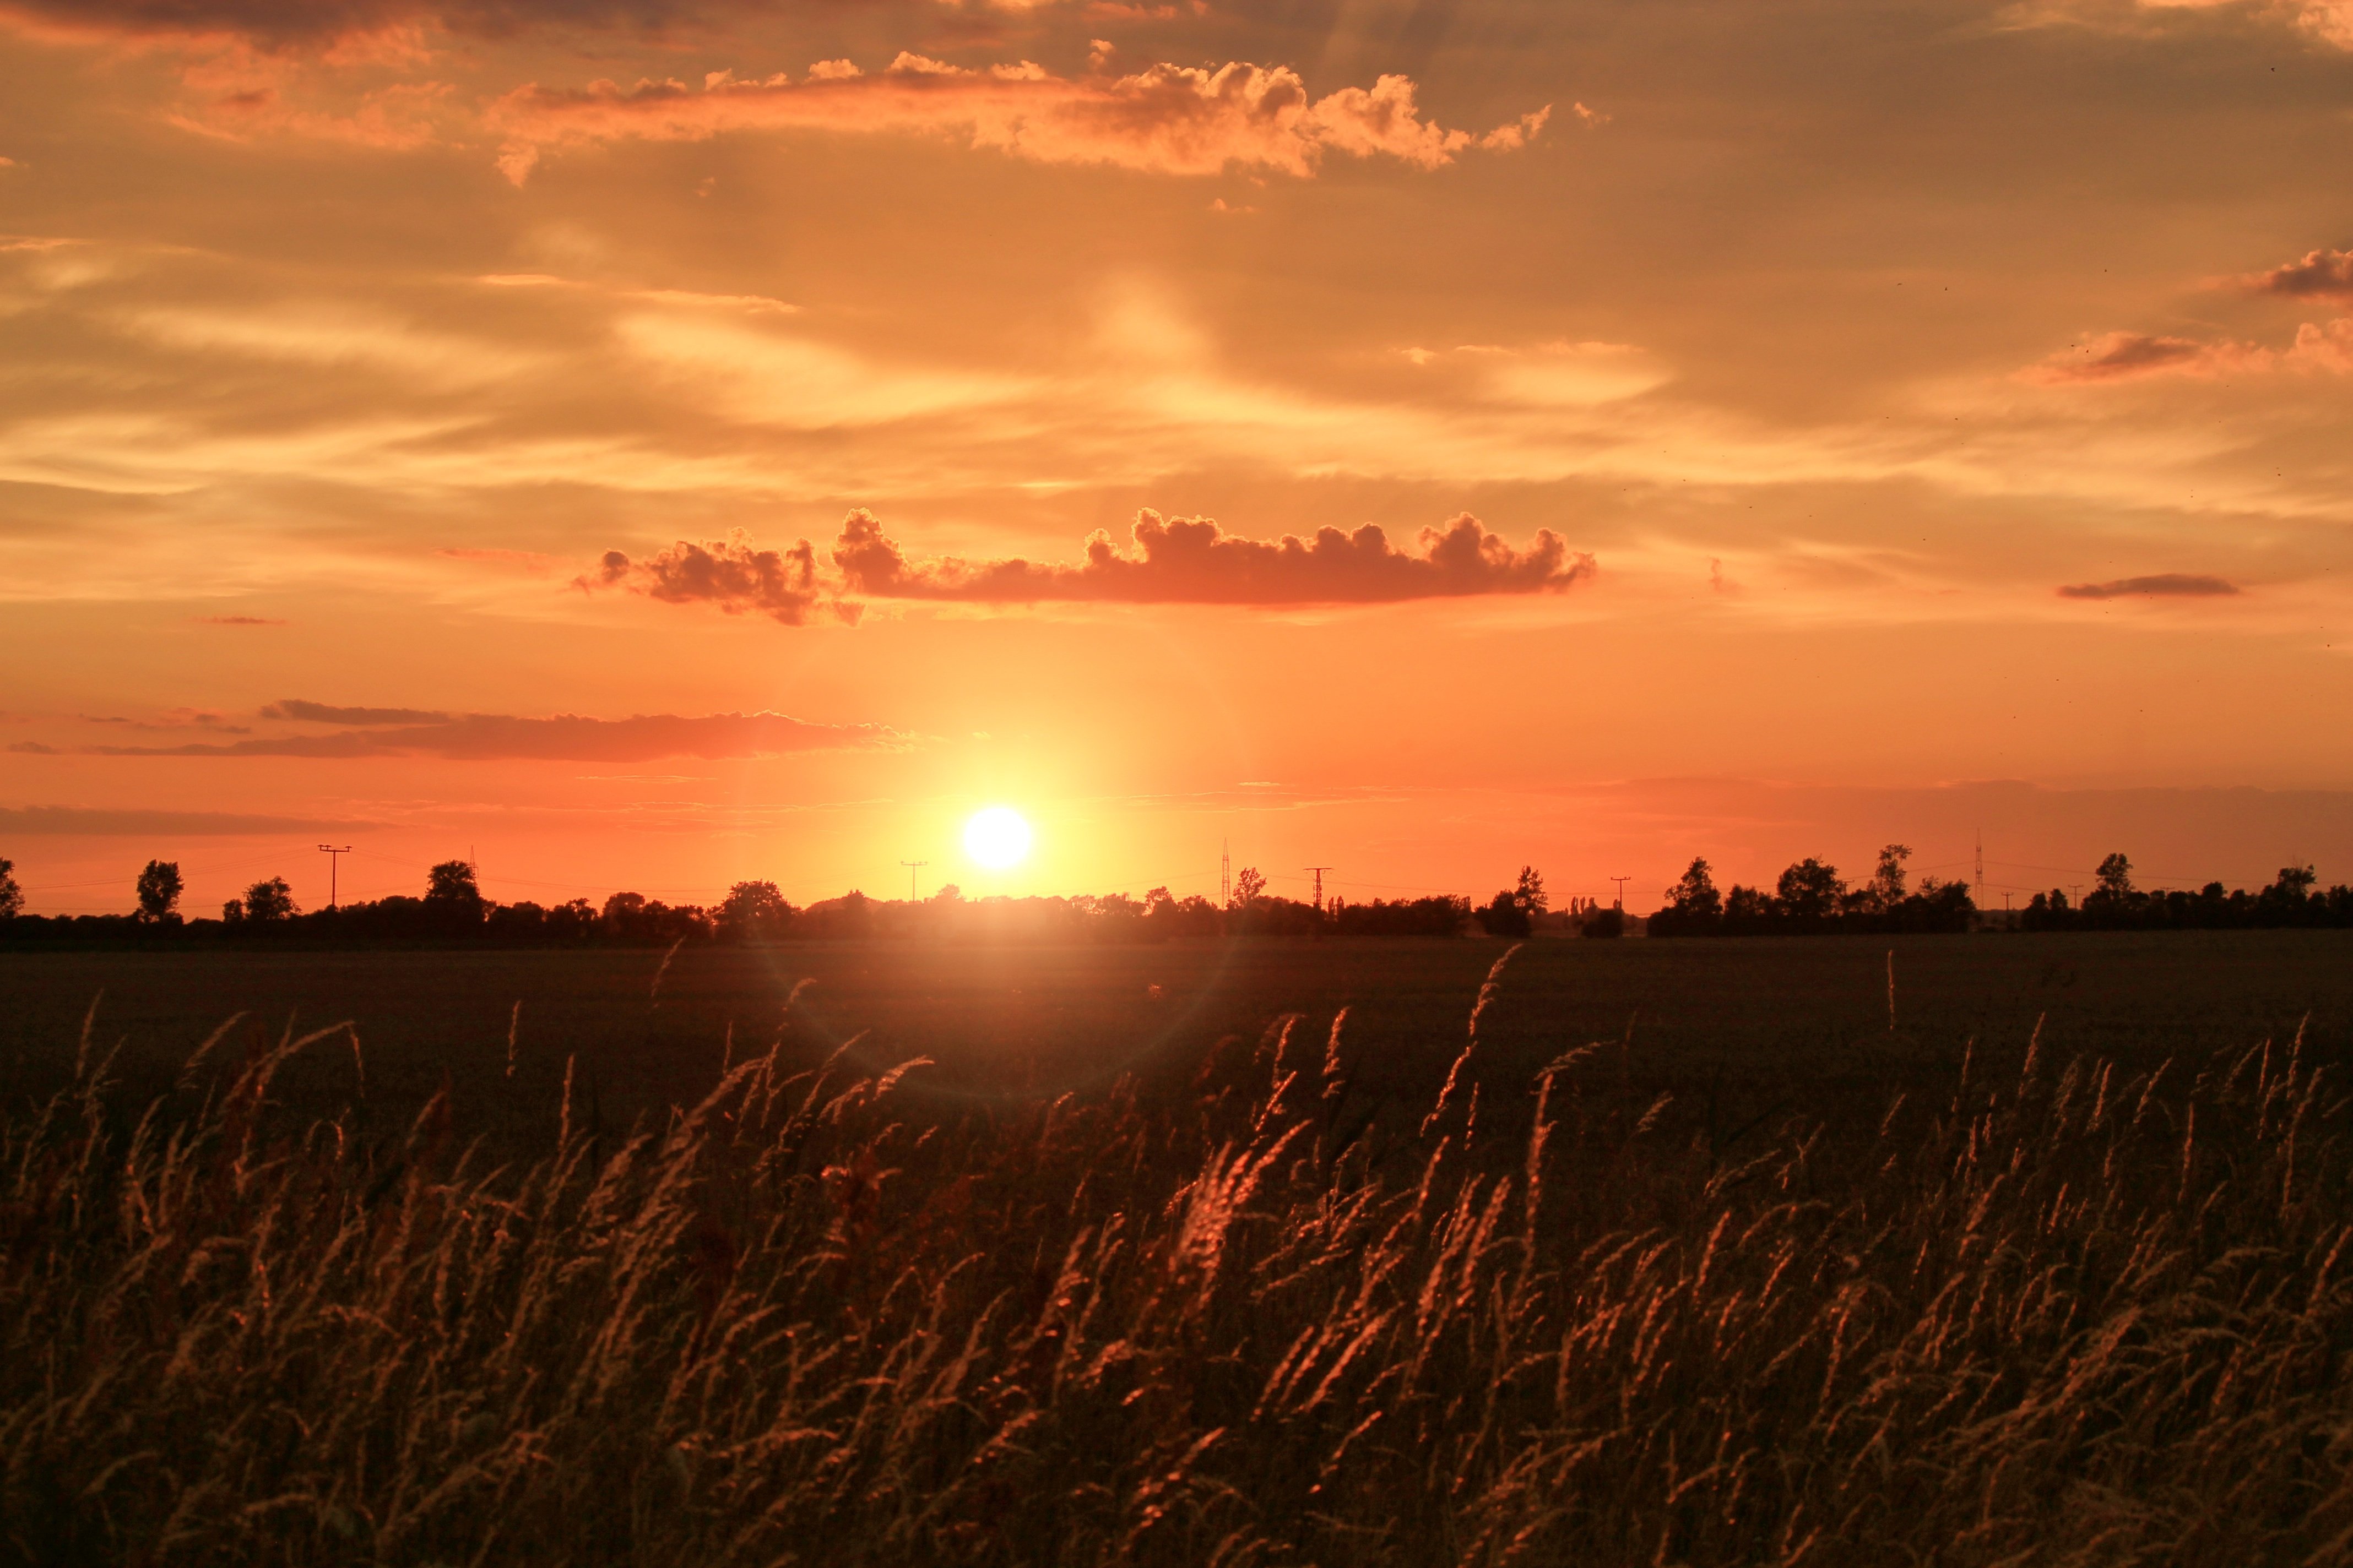
[[[1245,538],[1207,517],[1136,512],[1122,548],[1106,531],[1078,562],[913,559],[859,508],[842,522],[821,571],[809,541],[758,550],[736,529],[725,541],[680,541],[645,559],[609,550],[579,588],[628,588],[668,604],[711,604],[805,625],[819,609],[856,621],[859,599],[955,604],[1393,604],[1473,595],[1562,592],[1593,576],[1593,557],[1551,529],[1513,548],[1461,512],[1398,548],[1374,524],[1318,529],[1313,538]]]

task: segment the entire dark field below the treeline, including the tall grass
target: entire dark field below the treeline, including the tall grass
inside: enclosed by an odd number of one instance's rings
[[[2353,940],[1892,950],[0,959],[0,1556],[2348,1561]]]

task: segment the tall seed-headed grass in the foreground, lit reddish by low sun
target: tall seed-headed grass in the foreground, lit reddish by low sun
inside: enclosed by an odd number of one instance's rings
[[[289,1121],[341,1027],[136,1117],[85,1041],[0,1124],[0,1554],[2353,1556],[2353,1098],[2301,1034],[1972,1051],[1734,1154],[1598,1046],[1504,1084],[1475,1016],[1381,1107],[1294,1023],[1021,1114],[776,1046],[614,1140],[567,1077],[522,1168],[447,1100]]]

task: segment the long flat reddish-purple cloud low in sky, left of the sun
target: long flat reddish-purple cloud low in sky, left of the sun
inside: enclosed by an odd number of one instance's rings
[[[320,708],[301,703],[301,708]],[[320,708],[322,712],[336,712]],[[360,710],[384,712],[384,710]],[[586,719],[560,712],[518,719],[466,712],[431,724],[339,729],[325,736],[266,736],[221,745],[85,745],[89,757],[442,757],[449,762],[654,762],[659,757],[744,759],[791,752],[887,750],[911,738],[887,724],[809,724],[781,712],[671,712]]]

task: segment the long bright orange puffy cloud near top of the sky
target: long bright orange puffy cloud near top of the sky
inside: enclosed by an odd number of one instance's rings
[[[553,148],[704,141],[739,129],[958,134],[976,148],[1033,162],[1153,174],[1247,167],[1311,176],[1332,150],[1435,169],[1468,148],[1527,146],[1548,115],[1551,106],[1475,136],[1424,120],[1414,82],[1402,75],[1311,99],[1287,66],[1160,63],[1134,75],[1061,78],[1031,61],[967,71],[899,54],[875,75],[826,61],[800,82],[788,75],[736,80],[727,71],[711,73],[701,87],[607,80],[548,89],[534,82],[499,99],[489,125],[506,136],[499,167],[522,183]]]

